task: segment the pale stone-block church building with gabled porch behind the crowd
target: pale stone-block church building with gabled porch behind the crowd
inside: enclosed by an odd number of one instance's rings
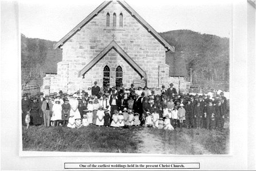
[[[168,88],[172,82],[183,83],[186,76],[170,73],[170,68],[183,70],[185,64],[166,64],[166,54],[175,48],[125,1],[103,2],[55,46],[62,49],[62,61],[57,73],[46,71],[41,89],[45,93],[86,91],[94,81],[100,87],[133,83]]]

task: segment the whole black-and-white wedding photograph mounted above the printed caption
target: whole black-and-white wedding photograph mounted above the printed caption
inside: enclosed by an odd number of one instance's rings
[[[229,154],[231,3],[96,2],[19,3],[22,150]]]

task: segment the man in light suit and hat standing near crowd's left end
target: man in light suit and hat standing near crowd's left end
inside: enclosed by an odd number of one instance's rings
[[[44,125],[45,127],[50,127],[50,115],[52,115],[53,112],[53,104],[49,99],[49,95],[45,95],[45,100],[42,102],[41,109],[44,115]]]

